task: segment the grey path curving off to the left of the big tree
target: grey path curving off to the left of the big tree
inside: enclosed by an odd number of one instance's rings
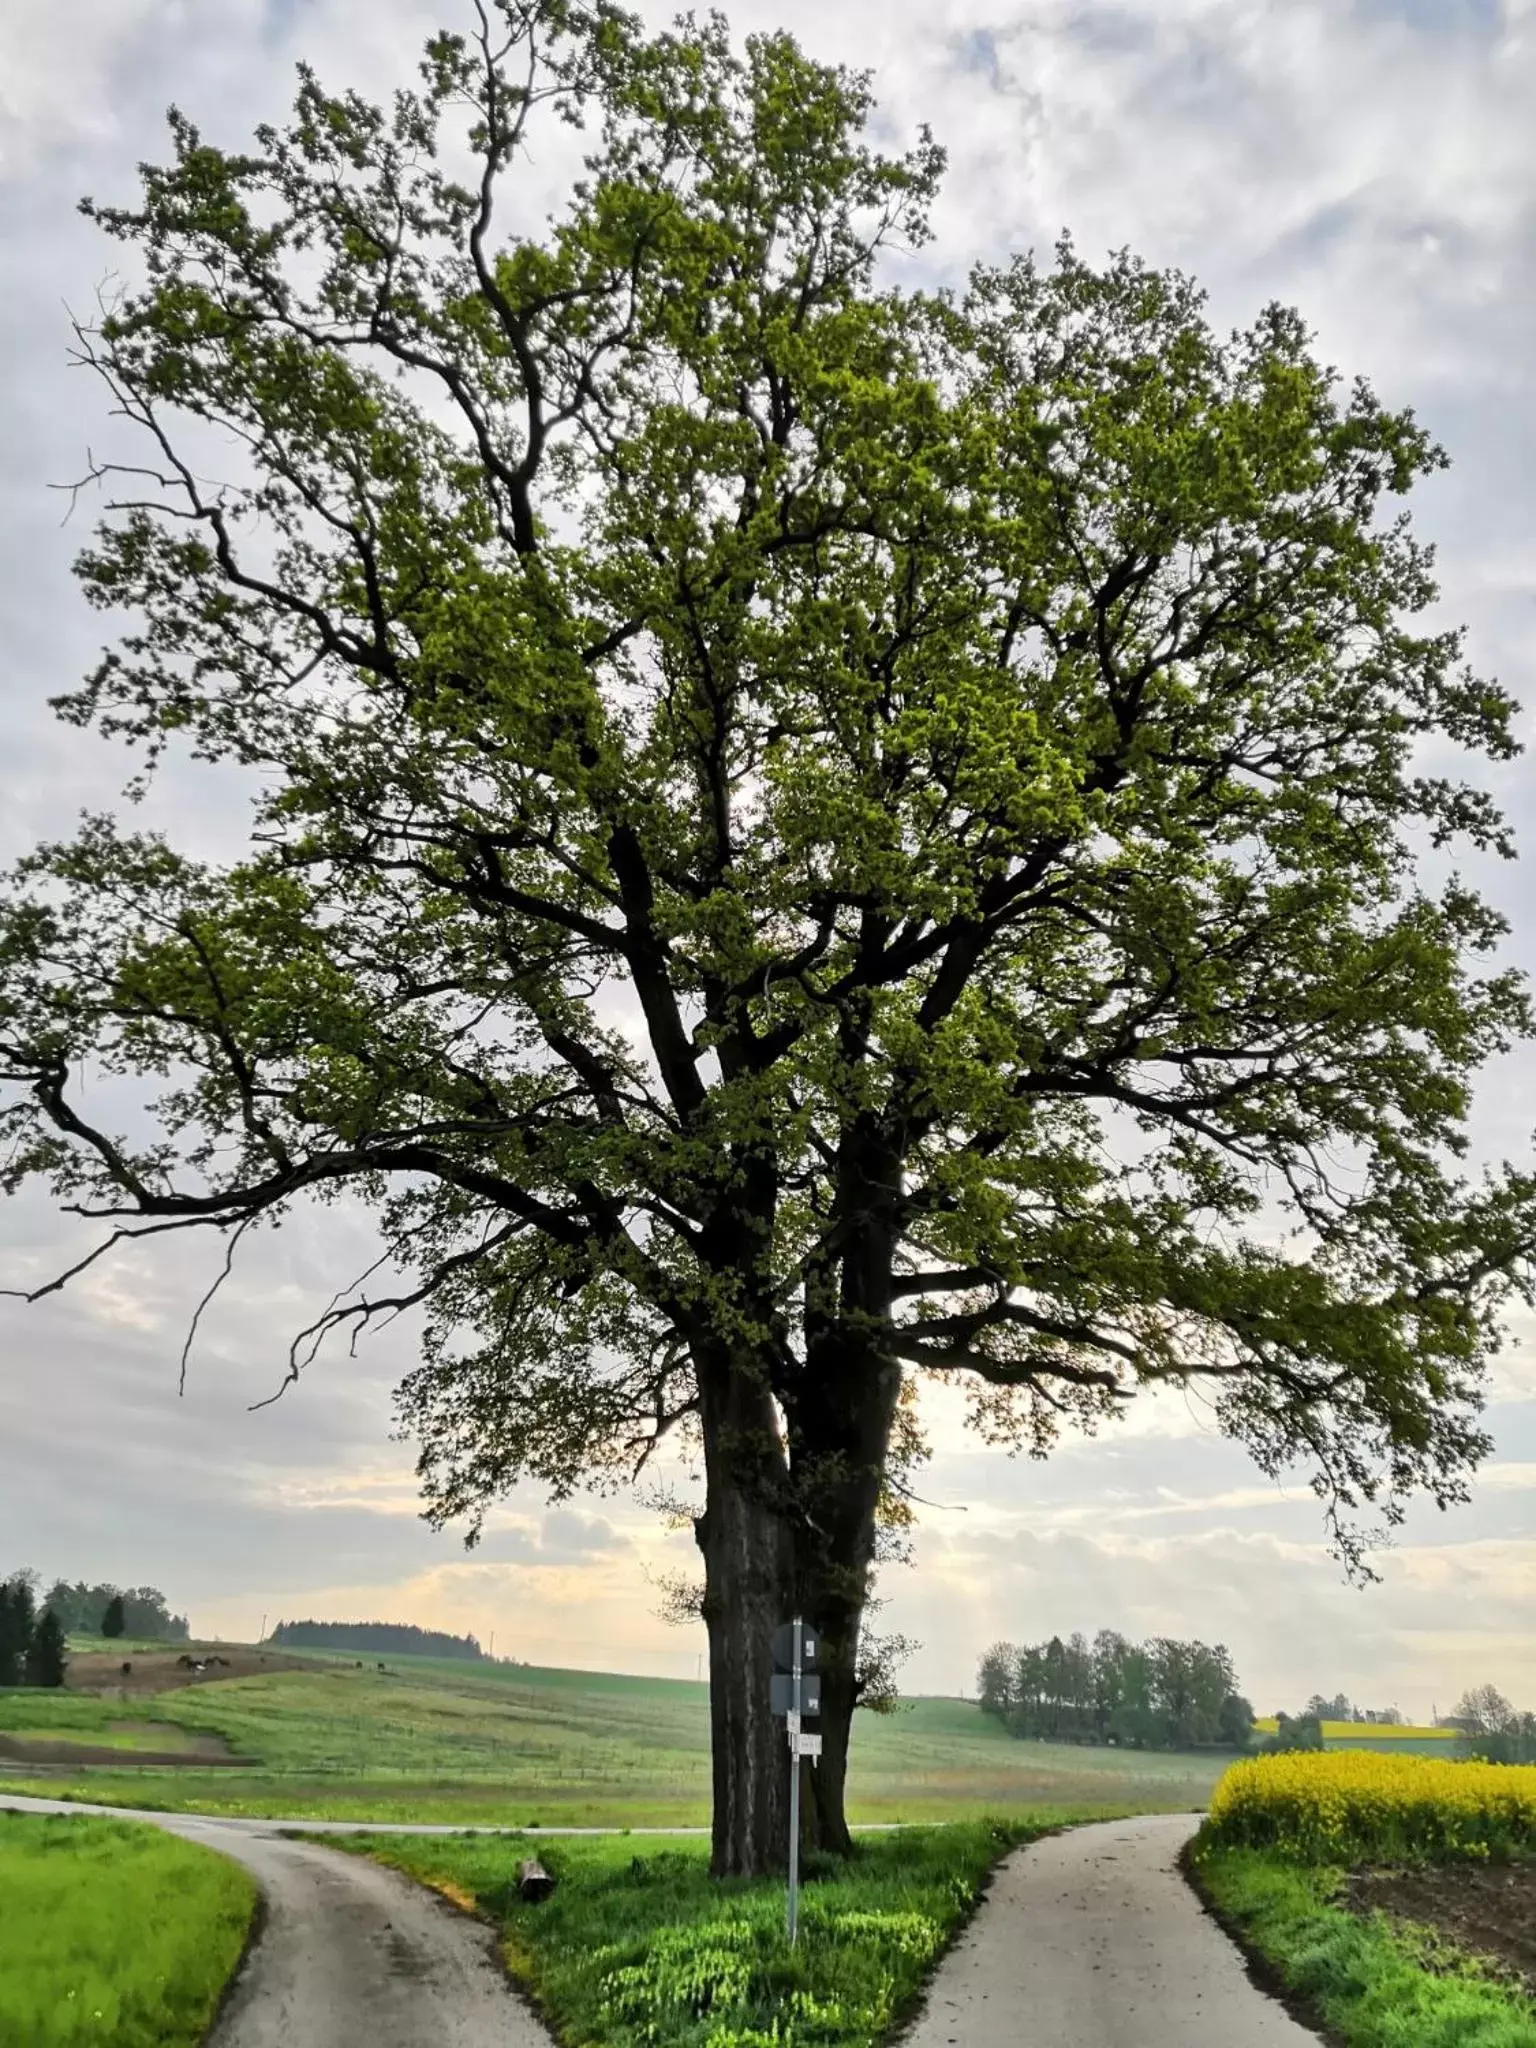
[[[80,1812],[61,1800],[0,1804]],[[262,1888],[266,1923],[207,2048],[549,2048],[502,1976],[489,1927],[410,1878],[264,1823],[133,1819],[231,1855]]]

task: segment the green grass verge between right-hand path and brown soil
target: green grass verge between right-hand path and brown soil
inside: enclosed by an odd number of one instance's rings
[[[1536,2048],[1536,2003],[1427,1931],[1337,1905],[1343,1870],[1196,1841],[1200,1890],[1343,2048]]]

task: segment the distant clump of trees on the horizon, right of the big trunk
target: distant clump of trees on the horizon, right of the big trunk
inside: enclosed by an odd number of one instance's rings
[[[1063,1642],[993,1642],[981,1659],[981,1710],[1010,1735],[1128,1749],[1245,1749],[1253,1708],[1227,1649],[1102,1628]]]

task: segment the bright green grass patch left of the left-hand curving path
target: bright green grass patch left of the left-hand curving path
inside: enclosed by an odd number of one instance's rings
[[[254,1905],[246,1872],[190,1841],[0,1812],[0,2042],[193,2048]]]

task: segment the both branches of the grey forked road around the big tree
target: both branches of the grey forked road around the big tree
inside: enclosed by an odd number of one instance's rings
[[[276,1833],[315,1823],[96,1810],[221,1849],[266,1894],[266,1927],[209,2048],[549,2048],[489,1929],[391,1870]],[[1180,1876],[1196,1827],[1198,1815],[1104,1821],[1010,1855],[903,2048],[1317,2048],[1249,1982]]]

